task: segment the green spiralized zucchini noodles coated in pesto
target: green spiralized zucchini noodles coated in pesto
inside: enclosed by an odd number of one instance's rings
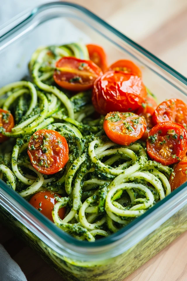
[[[148,160],[138,142],[128,147],[111,142],[103,131],[103,117],[90,117],[90,91],[71,96],[55,86],[55,62],[62,56],[89,59],[80,43],[41,47],[29,63],[32,82],[0,89],[1,107],[15,117],[11,132],[0,128],[11,137],[0,145],[0,178],[26,200],[43,190],[60,194],[52,211],[55,224],[77,239],[95,241],[171,193],[172,169]],[[69,145],[67,165],[52,176],[36,171],[27,155],[30,137],[43,128],[58,131]],[[58,210],[65,206],[61,220]]]

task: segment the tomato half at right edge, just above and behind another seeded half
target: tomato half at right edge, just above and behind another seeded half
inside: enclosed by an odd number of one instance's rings
[[[161,102],[153,113],[153,123],[172,121],[184,126],[187,125],[187,105],[178,99]]]

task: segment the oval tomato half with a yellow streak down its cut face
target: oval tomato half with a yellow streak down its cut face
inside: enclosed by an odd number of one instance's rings
[[[67,90],[85,91],[102,74],[101,68],[92,61],[64,56],[56,62],[53,78],[60,87]]]

